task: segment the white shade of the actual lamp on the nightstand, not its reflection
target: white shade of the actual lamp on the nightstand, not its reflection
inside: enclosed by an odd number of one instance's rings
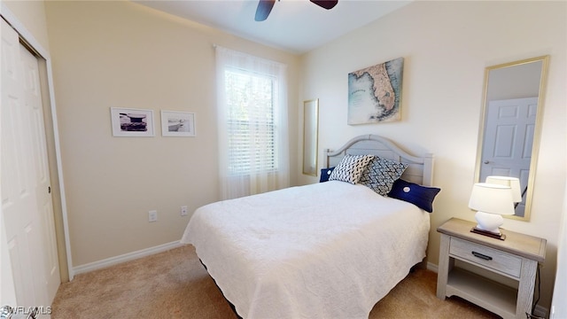
[[[489,214],[514,214],[512,188],[501,184],[475,183],[469,207]]]

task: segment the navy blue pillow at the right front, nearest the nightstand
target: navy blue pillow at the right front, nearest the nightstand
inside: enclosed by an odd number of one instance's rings
[[[433,199],[441,189],[436,187],[425,187],[416,183],[409,183],[402,179],[392,185],[392,191],[388,193],[391,198],[398,198],[412,203],[426,212],[433,212]]]

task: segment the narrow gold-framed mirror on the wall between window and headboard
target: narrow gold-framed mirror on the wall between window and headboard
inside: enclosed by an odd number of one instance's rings
[[[317,176],[318,144],[319,99],[315,98],[303,101],[303,174],[305,175]]]

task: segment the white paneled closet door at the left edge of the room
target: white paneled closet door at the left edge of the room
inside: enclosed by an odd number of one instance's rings
[[[1,69],[1,204],[18,302],[10,306],[49,307],[60,278],[39,66],[4,19]]]

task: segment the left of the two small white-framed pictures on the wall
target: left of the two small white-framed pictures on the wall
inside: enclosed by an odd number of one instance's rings
[[[153,110],[111,107],[113,136],[155,136]]]

